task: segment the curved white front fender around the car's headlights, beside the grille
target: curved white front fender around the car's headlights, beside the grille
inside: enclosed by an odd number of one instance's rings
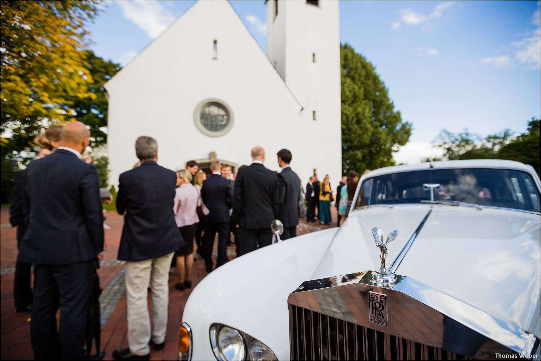
[[[192,328],[194,360],[215,359],[213,323],[260,340],[279,360],[289,359],[287,297],[318,265],[337,228],[309,233],[235,258],[197,285],[182,320]]]

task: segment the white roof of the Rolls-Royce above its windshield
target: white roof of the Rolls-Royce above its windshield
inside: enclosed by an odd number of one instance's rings
[[[432,164],[432,166],[431,166]],[[524,163],[516,162],[513,160],[500,160],[500,159],[472,159],[472,160],[447,160],[437,162],[424,162],[417,164],[405,164],[399,166],[384,167],[372,170],[363,176],[363,179],[372,178],[382,174],[391,174],[399,172],[408,172],[413,170],[423,169],[438,169],[438,168],[511,168],[524,170],[528,173],[533,173],[531,166],[527,166]]]

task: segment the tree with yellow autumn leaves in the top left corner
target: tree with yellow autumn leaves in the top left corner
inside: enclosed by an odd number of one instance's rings
[[[95,99],[85,60],[85,23],[96,1],[1,1],[2,160],[28,162],[32,139],[73,120],[73,100]]]

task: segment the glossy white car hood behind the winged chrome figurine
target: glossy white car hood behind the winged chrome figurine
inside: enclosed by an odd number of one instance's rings
[[[395,274],[411,277],[539,337],[538,214],[485,207],[397,205],[351,212],[311,279],[377,270],[371,229],[400,235],[387,267],[432,212]]]

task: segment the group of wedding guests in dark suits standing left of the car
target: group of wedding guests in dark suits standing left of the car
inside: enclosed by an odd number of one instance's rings
[[[88,358],[84,342],[90,291],[104,250],[102,200],[110,200],[109,194],[100,195],[96,168],[84,156],[89,137],[81,122],[48,128],[36,139],[41,159],[30,162],[15,182],[10,205],[10,222],[19,227],[14,298],[17,311],[32,312],[35,359]],[[227,262],[230,234],[236,233],[238,255],[270,245],[274,219],[283,222],[282,239],[295,237],[301,199],[300,180],[289,166],[292,154],[287,149],[277,154],[279,174],[263,166],[265,150],[255,147],[252,165],[232,173],[230,166],[212,161],[208,179],[194,161],[176,173],[159,166],[152,137],[138,137],[135,153],[139,161],[120,175],[116,197],[117,212],[124,216],[117,258],[125,261],[129,345],[114,351],[118,360],[149,359],[151,345],[164,348],[171,260],[176,258],[179,274],[175,288],[190,287],[198,235],[210,272],[216,233],[219,267]],[[100,357],[103,353],[91,359]]]

